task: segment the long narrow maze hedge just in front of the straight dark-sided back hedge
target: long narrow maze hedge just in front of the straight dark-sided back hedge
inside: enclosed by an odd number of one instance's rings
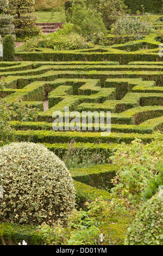
[[[39,64],[38,64],[39,65]],[[11,71],[14,70],[14,71]],[[37,67],[33,67],[32,64],[24,64],[24,65],[18,65],[15,66],[15,68],[7,69],[5,68],[4,71],[2,68],[0,69],[0,74],[4,76],[35,76],[35,75],[42,75],[49,71],[54,71],[56,74],[56,71],[58,72],[66,72],[66,71],[76,71],[78,72],[85,72],[86,75],[94,74],[95,72],[101,73],[103,72],[128,72],[128,71],[162,71],[161,65],[90,65],[89,63],[87,65],[41,65]],[[84,73],[83,73],[84,74]]]

